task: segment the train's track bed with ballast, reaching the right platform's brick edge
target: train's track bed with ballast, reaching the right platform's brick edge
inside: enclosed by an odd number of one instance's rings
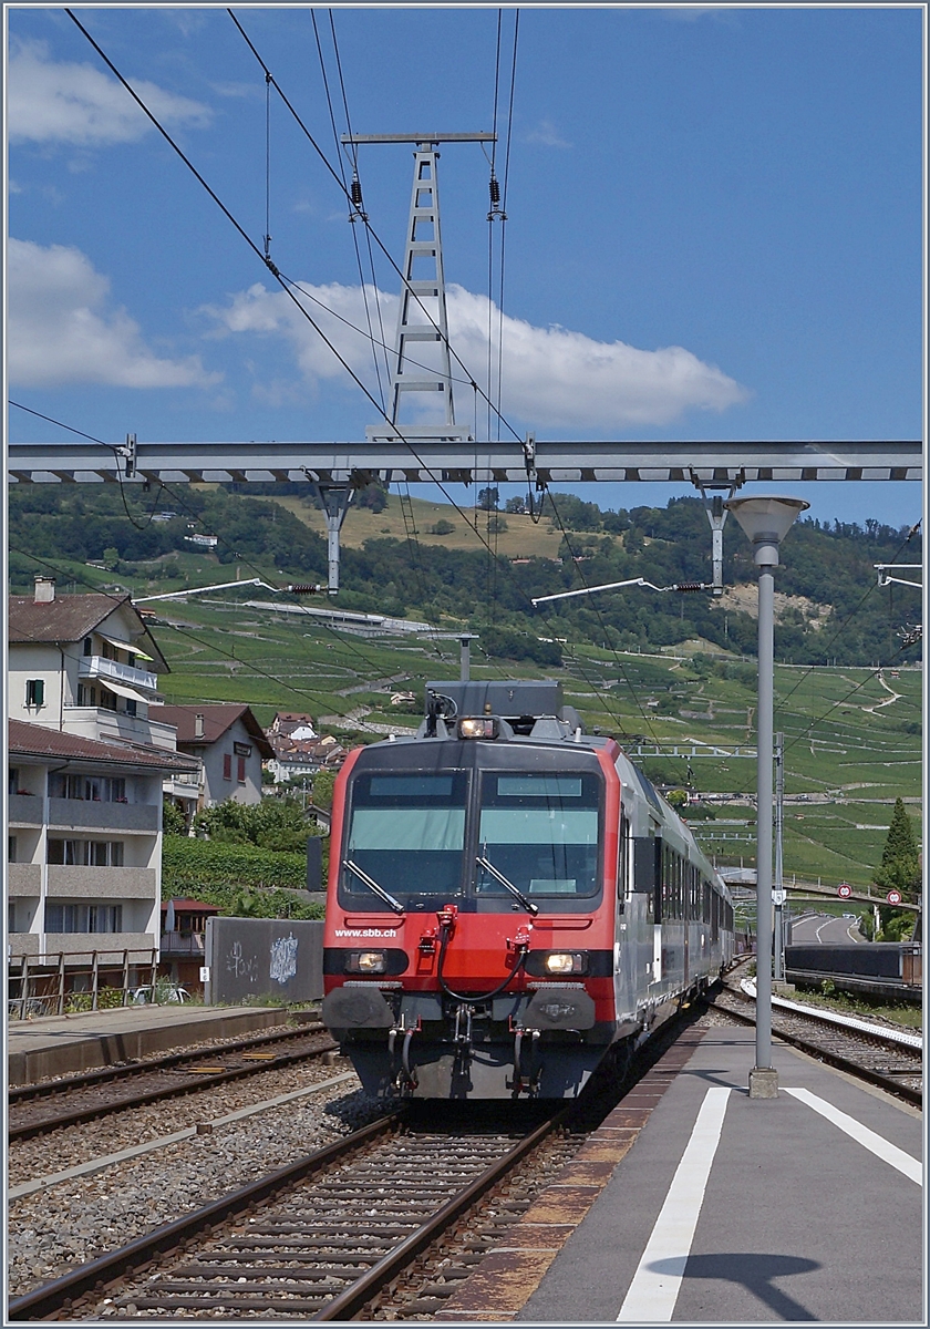
[[[542,1120],[543,1104],[502,1119],[446,1103],[437,1130],[433,1104],[408,1104],[25,1293],[9,1318],[429,1317],[695,1018]]]

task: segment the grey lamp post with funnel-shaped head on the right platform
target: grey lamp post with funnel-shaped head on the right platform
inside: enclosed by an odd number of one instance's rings
[[[775,569],[779,545],[810,504],[802,498],[729,498],[725,508],[752,544],[759,569],[759,720],[756,730],[756,1065],[749,1098],[777,1098],[772,1066],[772,762],[775,695]]]

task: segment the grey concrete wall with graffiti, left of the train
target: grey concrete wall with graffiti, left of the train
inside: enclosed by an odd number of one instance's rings
[[[207,918],[205,1001],[323,997],[323,922],[290,918]]]

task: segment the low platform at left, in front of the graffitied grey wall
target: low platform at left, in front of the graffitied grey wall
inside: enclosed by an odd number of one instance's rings
[[[280,1006],[141,1005],[7,1022],[9,1084],[150,1057],[283,1025]]]

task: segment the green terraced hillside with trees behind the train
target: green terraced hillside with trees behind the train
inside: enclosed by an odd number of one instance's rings
[[[12,590],[27,591],[36,573],[49,571],[60,593],[136,597],[236,577],[260,575],[272,586],[326,578],[322,517],[296,486],[256,497],[219,486],[170,494],[133,488],[128,510],[114,489],[15,486]],[[695,831],[719,863],[752,863],[755,759],[739,750],[753,740],[755,591],[740,598],[731,590],[715,603],[707,594],[632,590],[597,603],[569,601],[550,614],[527,605],[530,595],[579,585],[579,569],[589,585],[631,575],[656,585],[703,579],[709,528],[696,500],[606,513],[557,496],[557,514],[543,512],[537,525],[505,513],[506,529],[496,534],[488,534],[494,514],[480,512],[478,528],[497,545],[493,561],[454,510],[446,525],[461,529],[430,533],[448,506],[415,500],[404,514],[396,494],[367,497],[369,505],[349,512],[343,528],[344,589],[336,601],[278,599],[243,586],[150,603],[171,667],[161,679],[166,700],[247,702],[264,724],[276,710],[302,710],[328,732],[372,740],[417,723],[391,706],[392,692],[421,695],[425,679],[458,676],[454,634],[468,629],[480,637],[473,676],[559,678],[586,726],[615,735],[650,776],[732,795]],[[175,514],[153,520],[166,512]],[[397,538],[404,529],[409,540]],[[197,550],[186,538],[191,532],[217,534],[217,552]],[[751,554],[733,524],[727,550],[727,585],[752,587]],[[776,730],[787,744],[785,872],[866,885],[894,797],[913,800],[909,812],[919,817],[921,795],[919,646],[903,647],[899,635],[919,622],[919,594],[880,590],[872,565],[895,556],[917,562],[919,537],[874,524],[826,530],[800,522],[783,553]],[[247,599],[274,599],[280,609],[250,609]],[[286,613],[299,603],[424,619],[450,638],[363,639]],[[692,748],[732,755],[690,755]]]

